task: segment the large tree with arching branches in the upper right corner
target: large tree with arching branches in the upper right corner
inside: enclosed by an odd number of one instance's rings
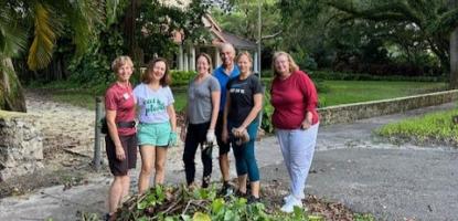
[[[341,11],[347,20],[394,21],[414,27],[439,57],[443,69],[450,71],[450,87],[458,88],[458,72],[454,70],[457,69],[454,64],[456,61],[451,61],[456,46],[450,48],[456,41],[454,30],[458,27],[458,7],[450,4],[449,0],[324,0],[322,2]]]

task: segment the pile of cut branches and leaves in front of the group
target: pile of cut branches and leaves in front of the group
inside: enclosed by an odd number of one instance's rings
[[[281,183],[273,181],[263,186],[262,203],[247,203],[245,198],[234,196],[221,197],[216,193],[216,185],[207,189],[190,189],[185,186],[173,186],[149,189],[143,194],[132,196],[115,217],[118,221],[161,220],[161,221],[373,221],[372,214],[358,214],[342,203],[326,202],[316,196],[305,200],[307,210],[295,208],[292,213],[279,211],[281,198],[286,191]],[[97,218],[97,215],[95,215]],[[94,221],[90,214],[84,213],[83,221]]]

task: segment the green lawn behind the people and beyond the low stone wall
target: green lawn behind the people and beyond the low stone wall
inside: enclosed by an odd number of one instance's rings
[[[324,92],[319,93],[320,106],[368,102],[401,97],[427,92],[443,91],[446,83],[381,82],[381,81],[323,81]],[[87,90],[50,90],[53,99],[94,109],[94,93]],[[172,87],[175,109],[185,105],[185,86]],[[268,92],[268,90],[266,90]]]

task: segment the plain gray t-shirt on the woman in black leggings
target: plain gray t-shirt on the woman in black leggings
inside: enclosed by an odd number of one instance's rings
[[[188,88],[188,117],[191,124],[210,122],[212,117],[212,92],[220,91],[216,77],[209,75],[201,83],[192,80]]]

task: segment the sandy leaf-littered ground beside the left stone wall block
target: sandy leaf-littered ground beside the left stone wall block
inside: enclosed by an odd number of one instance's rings
[[[53,102],[45,91],[28,91],[25,98],[28,113],[38,116],[36,129],[42,131],[44,168],[2,182],[0,198],[56,185],[71,188],[100,176],[90,166],[95,113]],[[106,168],[102,175],[108,176]]]

